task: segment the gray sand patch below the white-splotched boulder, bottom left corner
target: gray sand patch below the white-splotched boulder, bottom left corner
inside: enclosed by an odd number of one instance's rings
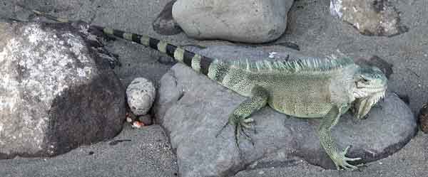
[[[122,140],[122,141],[121,141]],[[130,141],[131,140],[131,141]],[[118,141],[117,143],[114,143]],[[121,141],[121,142],[120,142]],[[54,158],[0,161],[0,176],[174,176],[175,156],[158,125],[132,129],[114,139],[81,146]]]

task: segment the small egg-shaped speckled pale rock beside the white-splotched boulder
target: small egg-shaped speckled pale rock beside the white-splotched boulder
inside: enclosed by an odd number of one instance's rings
[[[143,77],[135,78],[126,89],[128,106],[133,114],[144,115],[151,109],[156,97],[155,86]]]

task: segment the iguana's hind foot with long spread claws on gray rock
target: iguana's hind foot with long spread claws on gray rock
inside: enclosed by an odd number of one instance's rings
[[[238,138],[240,135],[244,136],[245,139],[248,139],[248,141],[251,142],[251,144],[254,145],[254,141],[253,139],[251,139],[250,135],[245,131],[245,129],[253,129],[255,131],[255,128],[251,125],[251,123],[254,122],[254,119],[251,118],[243,118],[240,117],[238,115],[235,114],[231,114],[229,116],[229,120],[228,122],[220,129],[220,131],[218,131],[218,133],[215,135],[215,137],[217,137],[219,134],[221,134],[221,132],[223,132],[223,129],[225,129],[225,127],[228,127],[229,124],[233,125],[233,127],[235,127],[235,143],[236,146],[238,146],[239,148],[239,142],[238,142]]]

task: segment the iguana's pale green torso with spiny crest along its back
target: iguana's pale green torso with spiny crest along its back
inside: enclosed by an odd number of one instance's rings
[[[350,58],[215,60],[211,65],[211,79],[246,97],[259,85],[267,90],[270,107],[295,117],[322,117],[332,103],[352,102],[352,77],[358,68]],[[348,89],[339,89],[344,87]]]

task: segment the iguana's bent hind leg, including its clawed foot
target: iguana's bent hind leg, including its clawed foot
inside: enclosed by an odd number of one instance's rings
[[[228,126],[228,124],[231,124],[233,127],[235,127],[235,143],[238,148],[238,137],[240,134],[243,134],[251,141],[250,136],[248,136],[244,129],[251,128],[250,122],[254,122],[254,120],[249,118],[250,115],[253,114],[253,112],[258,111],[260,108],[265,107],[268,97],[269,95],[267,94],[267,90],[265,90],[265,88],[258,85],[253,87],[251,90],[251,97],[235,108],[233,113],[230,114],[228,122],[223,126],[222,129],[220,129],[218,134],[220,134],[223,129]],[[216,136],[218,136],[218,134]],[[251,142],[253,143],[253,141]]]

